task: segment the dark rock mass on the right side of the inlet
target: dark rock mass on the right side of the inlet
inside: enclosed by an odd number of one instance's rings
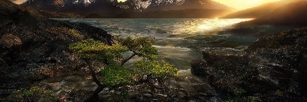
[[[298,28],[256,40],[244,52],[203,52],[191,72],[205,78],[221,98],[258,97],[262,101],[306,101],[307,28]]]

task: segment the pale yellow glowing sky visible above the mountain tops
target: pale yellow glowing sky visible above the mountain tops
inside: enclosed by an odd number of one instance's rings
[[[10,1],[13,1],[16,4],[21,4],[26,0],[10,0]],[[125,0],[118,0],[118,1],[125,1]],[[213,0],[213,1],[225,4],[237,10],[244,10],[261,4],[279,1],[279,0]]]

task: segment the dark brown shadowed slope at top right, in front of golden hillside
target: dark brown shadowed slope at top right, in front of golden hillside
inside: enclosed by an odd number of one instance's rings
[[[307,25],[307,1],[283,5],[260,18],[246,21],[250,24]]]

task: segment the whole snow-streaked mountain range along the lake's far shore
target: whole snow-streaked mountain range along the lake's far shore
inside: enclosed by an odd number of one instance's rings
[[[98,14],[107,17],[116,17],[126,12],[138,13],[159,10],[219,9],[235,11],[233,8],[211,0],[127,0],[119,3],[117,0],[28,0],[22,5],[34,9],[76,13],[82,16]]]

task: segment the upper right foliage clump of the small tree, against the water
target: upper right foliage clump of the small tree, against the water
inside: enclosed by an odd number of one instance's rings
[[[156,42],[155,39],[146,38],[118,38],[121,45],[126,46],[130,51],[141,54],[144,59],[156,59],[158,55],[158,49],[152,46],[152,43]]]

